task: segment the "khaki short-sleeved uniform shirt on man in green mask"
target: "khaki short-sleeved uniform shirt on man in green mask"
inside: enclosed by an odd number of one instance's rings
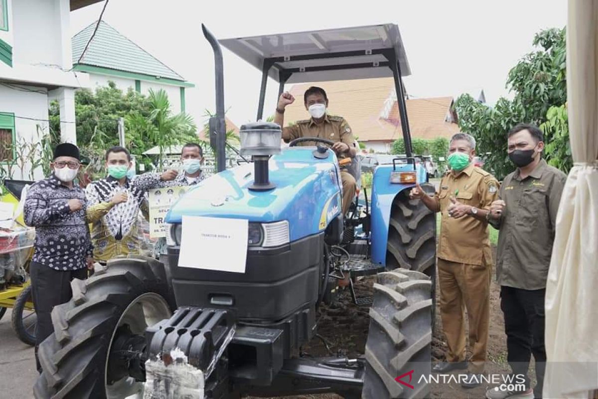
[[[492,265],[488,224],[472,216],[452,218],[447,212],[450,198],[478,209],[490,209],[498,199],[498,181],[472,163],[456,176],[447,172],[435,197],[440,200],[441,226],[438,258],[456,263]]]

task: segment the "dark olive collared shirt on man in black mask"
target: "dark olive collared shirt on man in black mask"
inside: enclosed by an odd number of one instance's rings
[[[505,202],[500,220],[496,280],[500,285],[541,290],[546,288],[553,250],[554,226],[567,176],[540,160],[524,179],[519,169],[503,181],[499,197]]]

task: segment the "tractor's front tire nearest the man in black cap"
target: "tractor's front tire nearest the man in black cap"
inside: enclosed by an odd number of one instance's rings
[[[52,310],[54,334],[39,345],[38,399],[106,398],[106,359],[123,312],[148,293],[174,307],[164,265],[151,258],[117,258],[71,287],[72,299]]]

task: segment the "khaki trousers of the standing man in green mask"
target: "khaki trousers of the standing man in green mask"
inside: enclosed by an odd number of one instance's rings
[[[465,312],[469,321],[469,345],[472,347],[469,371],[482,373],[486,363],[490,324],[490,278],[492,267],[454,263],[438,258],[440,316],[449,362],[465,361]]]

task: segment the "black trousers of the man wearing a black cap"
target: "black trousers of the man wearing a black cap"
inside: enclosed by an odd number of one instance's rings
[[[55,270],[43,264],[31,262],[31,294],[37,322],[35,324],[35,363],[41,373],[37,356],[39,344],[54,333],[51,312],[54,306],[68,302],[72,297],[72,279],[86,279],[87,269]]]

